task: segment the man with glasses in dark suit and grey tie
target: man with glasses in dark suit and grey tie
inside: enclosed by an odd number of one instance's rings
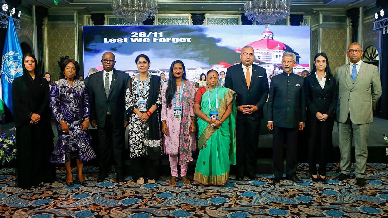
[[[107,166],[113,155],[116,161],[116,181],[124,180],[123,149],[126,121],[125,93],[128,86],[128,74],[114,69],[114,54],[106,52],[101,60],[104,70],[94,73],[88,79],[90,99],[90,120],[97,126],[99,135],[99,177],[102,182],[107,176]],[[113,151],[113,154],[112,154]]]

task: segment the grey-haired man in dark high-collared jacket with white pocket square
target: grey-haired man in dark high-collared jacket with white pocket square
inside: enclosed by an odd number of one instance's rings
[[[279,183],[283,176],[283,145],[286,140],[286,178],[296,183],[302,181],[296,176],[296,148],[298,129],[303,130],[306,103],[303,77],[294,74],[294,53],[285,52],[282,56],[283,73],[272,77],[268,97],[269,130],[273,130],[272,161],[274,166],[274,183]]]

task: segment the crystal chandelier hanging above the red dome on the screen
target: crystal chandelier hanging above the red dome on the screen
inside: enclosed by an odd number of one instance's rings
[[[290,14],[292,0],[252,0],[245,2],[245,16],[249,20],[256,20],[269,28],[280,19]]]

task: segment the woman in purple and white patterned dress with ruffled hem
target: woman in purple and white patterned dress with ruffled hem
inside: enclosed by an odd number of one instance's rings
[[[97,156],[89,144],[88,133],[90,105],[85,83],[74,80],[80,65],[73,59],[66,59],[61,66],[64,78],[55,81],[50,91],[50,107],[57,120],[58,142],[50,162],[65,164],[66,183],[73,186],[70,160],[76,158],[77,177],[81,185],[86,184],[83,177],[83,162]]]

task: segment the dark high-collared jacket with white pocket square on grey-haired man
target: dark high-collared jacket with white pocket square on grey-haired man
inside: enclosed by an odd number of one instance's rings
[[[303,77],[283,72],[272,77],[268,97],[268,121],[283,128],[297,128],[305,121]]]

